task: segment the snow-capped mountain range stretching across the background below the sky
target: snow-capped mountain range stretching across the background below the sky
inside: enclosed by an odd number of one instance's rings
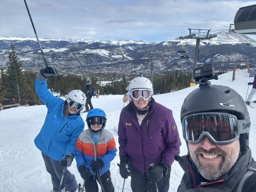
[[[215,70],[229,71],[233,66],[256,66],[256,41],[244,34],[219,32],[209,40],[201,40],[198,64],[211,62]],[[0,38],[0,67],[5,67],[10,44],[13,43],[25,70],[38,70],[44,61],[35,38]],[[195,57],[195,39],[154,43],[135,40],[101,41],[40,39],[48,65],[61,73],[109,75],[150,74],[180,70],[191,72]],[[182,60],[178,51],[186,51]]]

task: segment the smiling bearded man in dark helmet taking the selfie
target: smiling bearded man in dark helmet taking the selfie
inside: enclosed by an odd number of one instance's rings
[[[183,102],[181,121],[189,152],[175,156],[185,172],[177,192],[256,192],[250,117],[236,91],[219,85],[195,89]]]

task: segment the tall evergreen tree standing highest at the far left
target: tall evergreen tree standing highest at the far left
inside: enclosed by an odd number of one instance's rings
[[[6,98],[20,103],[21,98],[26,96],[26,79],[22,72],[22,63],[15,52],[13,44],[6,62],[7,71],[3,74],[3,89],[6,90]]]

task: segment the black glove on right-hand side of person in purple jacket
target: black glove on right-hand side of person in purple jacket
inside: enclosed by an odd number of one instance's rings
[[[157,183],[168,172],[168,170],[169,166],[166,163],[161,162],[157,166],[150,167],[148,172],[146,172],[146,175],[150,183]]]

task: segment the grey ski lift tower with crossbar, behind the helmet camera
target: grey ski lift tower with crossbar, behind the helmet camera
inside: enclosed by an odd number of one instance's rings
[[[197,32],[191,32],[191,30],[195,30]],[[209,34],[210,29],[190,29],[189,28],[189,35],[180,37],[180,39],[185,40],[185,39],[196,39],[196,44],[195,44],[195,58],[194,58],[194,65],[193,65],[193,71],[197,66],[197,61],[199,59],[199,46],[200,46],[200,41],[201,40],[209,40],[211,38],[217,37],[216,34]],[[194,82],[194,77],[193,77],[193,71],[192,71],[192,82]]]

